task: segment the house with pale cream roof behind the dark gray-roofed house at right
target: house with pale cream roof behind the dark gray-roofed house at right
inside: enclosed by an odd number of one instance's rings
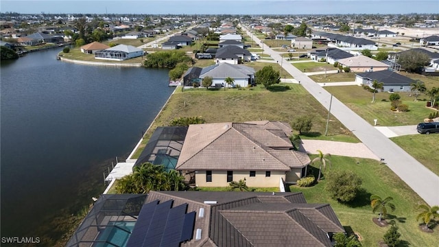
[[[343,65],[343,67],[351,68],[352,72],[382,71],[389,69],[388,64],[363,55],[342,58],[337,62]]]

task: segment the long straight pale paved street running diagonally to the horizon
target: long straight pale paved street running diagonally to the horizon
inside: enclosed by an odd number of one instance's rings
[[[246,30],[244,27],[242,28]],[[248,30],[246,30],[246,32],[248,32]],[[252,36],[250,32],[248,32],[248,35],[250,37]],[[261,40],[258,38],[254,37],[254,41],[261,45]],[[283,58],[278,55],[278,52],[273,51],[266,45],[263,49],[265,54],[270,54],[274,60],[278,60],[279,63],[281,63],[281,59]],[[300,81],[300,84],[302,84],[320,104],[327,109],[329,108],[331,99],[330,93],[302,73],[302,71],[296,69],[296,67],[290,64],[286,59],[282,64],[283,69],[290,73],[296,80]],[[373,119],[369,119],[369,121],[362,119],[335,97],[333,97],[332,100],[331,113],[342,122],[346,128],[351,130],[376,156],[383,158],[388,167],[418,193],[425,202],[429,205],[439,205],[439,176],[416,161],[416,159],[374,128],[374,126],[370,124],[373,122]]]

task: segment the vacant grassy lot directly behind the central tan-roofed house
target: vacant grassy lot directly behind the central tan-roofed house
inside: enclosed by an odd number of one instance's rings
[[[306,104],[304,104],[306,102]],[[292,123],[295,117],[309,115],[313,118],[312,135],[318,139],[343,140],[353,142],[357,138],[338,121],[329,124],[329,136],[323,134],[326,126],[327,110],[301,85],[291,84],[285,91],[283,84],[272,87],[271,91],[256,86],[250,89],[206,90],[176,89],[168,104],[158,116],[133,158],[139,157],[147,140],[158,126],[168,126],[176,117],[202,116],[208,123],[224,121],[254,121],[270,119]]]

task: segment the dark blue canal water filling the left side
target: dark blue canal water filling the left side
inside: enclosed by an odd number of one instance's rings
[[[174,90],[165,69],[73,64],[59,51],[1,63],[1,237],[39,237],[91,203]]]

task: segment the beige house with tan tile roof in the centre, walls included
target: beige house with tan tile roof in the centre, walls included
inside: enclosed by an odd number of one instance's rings
[[[191,125],[176,169],[192,172],[198,187],[226,187],[244,178],[248,187],[296,183],[311,161],[293,150],[291,132],[280,121]]]

